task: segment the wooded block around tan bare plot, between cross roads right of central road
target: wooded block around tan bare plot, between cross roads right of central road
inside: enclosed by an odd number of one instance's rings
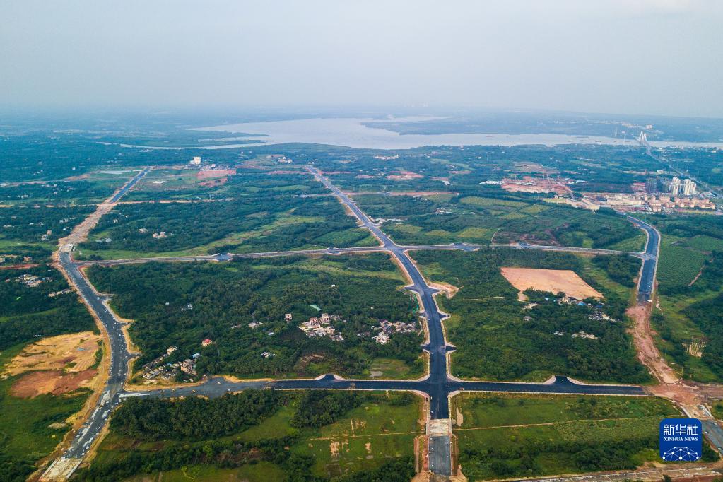
[[[438,296],[452,354],[451,371],[470,379],[543,381],[553,374],[596,382],[648,382],[625,332],[631,288],[611,279],[617,267],[568,253],[483,249],[414,251],[432,283],[446,283],[453,296]],[[630,280],[640,263],[630,264]],[[570,300],[557,293],[518,288],[502,268],[571,270],[602,298]],[[623,278],[618,278],[623,279]],[[629,283],[633,285],[633,283]]]

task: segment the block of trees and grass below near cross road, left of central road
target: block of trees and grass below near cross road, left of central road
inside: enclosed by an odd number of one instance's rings
[[[90,468],[78,473],[80,481],[286,481],[297,473],[319,481],[402,482],[414,475],[414,439],[424,433],[421,400],[406,393],[251,390],[208,401],[128,405],[114,415],[111,434]],[[171,423],[171,410],[203,425],[242,407],[253,416],[214,434],[153,429]],[[138,431],[140,423],[150,431]]]

